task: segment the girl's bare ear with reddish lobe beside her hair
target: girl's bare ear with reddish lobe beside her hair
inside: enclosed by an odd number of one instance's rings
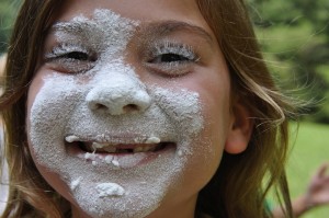
[[[253,129],[253,122],[246,106],[237,102],[232,106],[232,119],[225,144],[225,151],[231,154],[247,149]]]

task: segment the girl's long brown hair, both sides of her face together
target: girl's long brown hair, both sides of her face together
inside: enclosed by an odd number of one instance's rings
[[[5,158],[10,196],[3,217],[64,217],[69,205],[38,173],[27,148],[25,119],[29,84],[36,70],[42,43],[63,0],[25,1],[10,42],[4,94]],[[293,107],[280,94],[262,59],[242,0],[196,0],[215,33],[230,69],[232,93],[252,114],[254,129],[246,151],[224,153],[212,181],[201,191],[196,213],[213,217],[271,217],[264,198],[275,188],[292,217],[284,173],[287,119]],[[0,168],[1,169],[1,168]],[[69,215],[67,215],[69,216]]]

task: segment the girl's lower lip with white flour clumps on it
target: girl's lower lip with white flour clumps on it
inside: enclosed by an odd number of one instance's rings
[[[136,153],[88,153],[79,146],[67,145],[67,153],[71,157],[78,157],[84,162],[94,167],[106,167],[113,170],[129,169],[144,165],[155,161],[158,158],[175,153],[174,145],[167,145],[163,149],[156,152],[136,152]]]

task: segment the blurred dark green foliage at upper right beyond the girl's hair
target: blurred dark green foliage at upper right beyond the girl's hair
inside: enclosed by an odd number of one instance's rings
[[[247,0],[257,35],[283,90],[294,91],[314,122],[329,124],[329,1]],[[283,82],[284,81],[284,82]],[[291,81],[291,82],[287,82]]]

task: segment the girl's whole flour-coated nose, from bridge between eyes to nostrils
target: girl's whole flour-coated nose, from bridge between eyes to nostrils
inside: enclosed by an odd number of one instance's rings
[[[104,61],[92,71],[94,77],[86,96],[91,110],[122,115],[141,112],[150,106],[151,99],[146,85],[131,66],[117,59],[116,62]]]

